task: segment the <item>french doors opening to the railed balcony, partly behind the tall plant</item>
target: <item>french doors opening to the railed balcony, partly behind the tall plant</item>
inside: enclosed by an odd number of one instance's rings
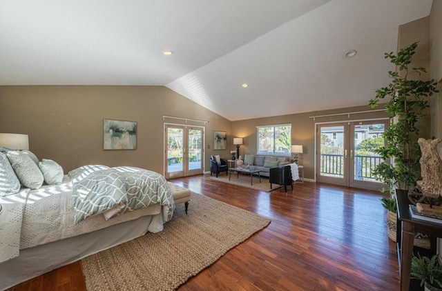
[[[384,145],[388,120],[316,125],[316,178],[354,188],[379,190],[373,169],[381,163],[374,149]]]

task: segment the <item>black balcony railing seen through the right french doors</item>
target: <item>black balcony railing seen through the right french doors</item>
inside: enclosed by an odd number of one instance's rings
[[[376,177],[372,170],[381,163],[381,157],[354,156],[354,179],[363,181],[375,181]],[[344,176],[343,154],[321,154],[320,173],[329,177]]]

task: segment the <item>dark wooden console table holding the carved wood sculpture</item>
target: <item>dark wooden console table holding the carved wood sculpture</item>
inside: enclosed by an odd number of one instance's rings
[[[397,203],[397,249],[399,274],[401,276],[401,291],[408,291],[410,288],[410,272],[414,248],[414,235],[416,232],[429,234],[431,237],[442,237],[442,225],[416,221],[410,217],[408,205],[408,191],[396,190]]]

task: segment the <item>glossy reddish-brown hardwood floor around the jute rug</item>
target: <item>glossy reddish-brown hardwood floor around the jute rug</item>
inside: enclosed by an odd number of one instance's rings
[[[205,176],[171,180],[193,192],[271,218],[178,290],[398,290],[396,246],[379,192],[296,184],[293,196]],[[192,208],[189,205],[189,215]],[[10,290],[86,290],[76,262]]]

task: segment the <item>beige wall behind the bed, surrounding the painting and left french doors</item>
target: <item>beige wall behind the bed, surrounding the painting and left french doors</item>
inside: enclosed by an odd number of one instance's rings
[[[230,121],[162,86],[0,86],[0,110],[0,132],[29,134],[30,150],[65,172],[99,163],[163,173],[163,115],[209,121],[206,170],[213,152],[235,149]],[[103,150],[103,119],[137,121],[137,150]],[[231,148],[213,151],[213,130],[226,131]]]

